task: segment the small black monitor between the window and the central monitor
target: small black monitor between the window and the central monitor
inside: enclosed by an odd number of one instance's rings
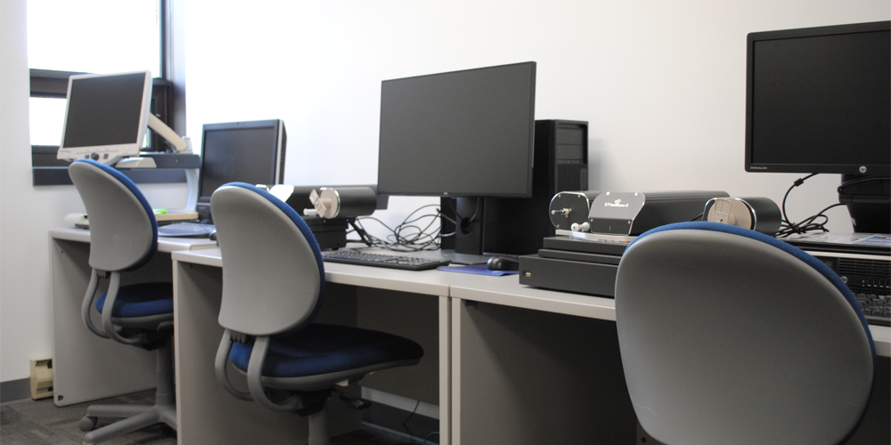
[[[199,217],[209,219],[210,197],[227,182],[282,183],[286,144],[284,122],[279,119],[205,124],[196,208]]]

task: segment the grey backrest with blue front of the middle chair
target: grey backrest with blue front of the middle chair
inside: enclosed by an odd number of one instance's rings
[[[307,224],[278,198],[240,182],[217,189],[210,208],[223,256],[220,326],[270,336],[311,322],[324,269]]]

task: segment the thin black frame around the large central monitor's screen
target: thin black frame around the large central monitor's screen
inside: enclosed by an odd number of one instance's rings
[[[530,106],[529,106],[529,134],[528,134],[528,159],[527,159],[527,183],[526,190],[522,193],[489,193],[489,192],[449,192],[449,191],[413,191],[413,190],[386,190],[380,187],[380,134],[378,140],[378,193],[388,195],[388,196],[427,196],[427,197],[443,197],[443,198],[532,198],[533,195],[533,168],[535,164],[535,84],[537,77],[537,63],[535,61],[524,61],[519,63],[508,63],[503,65],[494,65],[490,67],[481,67],[474,69],[457,69],[453,71],[446,71],[440,73],[426,74],[421,76],[410,76],[410,77],[398,77],[393,79],[387,79],[381,81],[381,98],[383,94],[383,84],[386,82],[393,82],[405,79],[414,79],[414,78],[423,78],[423,77],[436,77],[436,76],[446,76],[449,74],[455,73],[465,73],[472,71],[480,71],[486,69],[499,69],[499,68],[507,68],[514,67],[519,65],[531,65],[532,73],[531,73],[531,88],[530,88]],[[383,101],[381,100],[380,104],[381,108],[383,107]],[[380,114],[383,114],[383,110],[380,110]]]

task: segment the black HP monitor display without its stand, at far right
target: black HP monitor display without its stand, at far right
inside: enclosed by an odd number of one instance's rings
[[[748,35],[746,170],[891,174],[891,21]]]

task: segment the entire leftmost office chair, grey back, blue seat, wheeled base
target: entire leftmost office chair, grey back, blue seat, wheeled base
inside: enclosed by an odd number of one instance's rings
[[[121,272],[143,266],[158,247],[158,223],[151,207],[127,176],[90,159],[69,166],[90,221],[90,266],[81,315],[97,336],[131,344],[158,355],[155,405],[91,405],[80,429],[86,443],[108,441],[122,434],[163,423],[176,429],[176,393],[173,351],[173,285],[140,283],[120,285]],[[108,292],[95,300],[102,327],[91,316],[100,279],[110,279]],[[95,431],[96,417],[127,417]]]

